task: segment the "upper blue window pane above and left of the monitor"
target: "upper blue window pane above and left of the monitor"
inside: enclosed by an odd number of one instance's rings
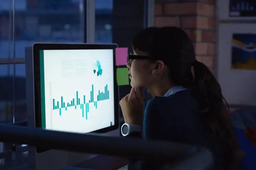
[[[0,58],[8,57],[9,3],[0,7]],[[24,47],[35,42],[84,42],[84,0],[15,1],[15,49],[24,57]],[[8,7],[8,8],[7,8]],[[11,26],[12,28],[12,26]],[[12,49],[11,49],[12,50]]]

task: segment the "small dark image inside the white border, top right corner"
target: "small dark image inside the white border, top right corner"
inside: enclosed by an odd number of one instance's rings
[[[255,17],[256,0],[230,0],[229,1],[230,17]]]

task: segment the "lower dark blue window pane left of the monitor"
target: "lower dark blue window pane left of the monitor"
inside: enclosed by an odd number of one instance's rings
[[[26,120],[25,74],[25,64],[0,64],[0,123]]]

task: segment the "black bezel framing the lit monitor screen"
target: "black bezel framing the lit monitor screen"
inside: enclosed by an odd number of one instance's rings
[[[118,85],[116,82],[116,54],[117,44],[61,44],[61,43],[35,43],[33,45],[33,71],[34,71],[34,102],[35,102],[35,127],[42,127],[41,123],[41,85],[40,85],[40,50],[113,50],[113,70],[114,70],[114,125],[93,131],[93,133],[103,134],[119,128],[119,97]],[[39,93],[38,93],[39,92]],[[37,148],[37,152],[44,152],[49,149]]]

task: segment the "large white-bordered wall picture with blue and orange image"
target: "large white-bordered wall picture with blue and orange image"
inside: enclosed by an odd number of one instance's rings
[[[217,78],[231,105],[256,106],[256,24],[220,24]]]

